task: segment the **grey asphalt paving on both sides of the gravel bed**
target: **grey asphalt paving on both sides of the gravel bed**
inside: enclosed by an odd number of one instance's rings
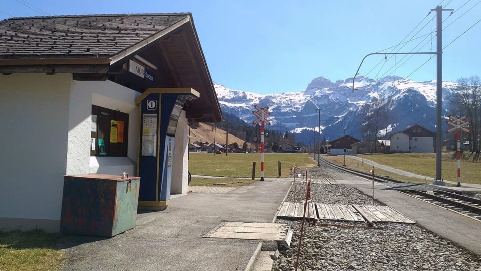
[[[396,173],[412,174],[399,170]],[[265,178],[264,182],[233,190],[193,188],[192,193],[172,198],[164,211],[140,211],[136,227],[123,234],[112,238],[64,236],[60,242],[67,258],[63,270],[245,270],[258,240],[202,236],[224,221],[272,222],[291,181]],[[336,181],[372,196],[371,180],[339,173]],[[481,255],[478,220],[399,193],[382,183],[376,182],[374,188],[377,200],[419,226]]]

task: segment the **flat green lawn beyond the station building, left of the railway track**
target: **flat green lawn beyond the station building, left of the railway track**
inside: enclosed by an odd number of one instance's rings
[[[317,162],[307,153],[301,154],[264,154],[264,177],[277,176],[277,162],[281,162],[281,177],[289,177],[291,167],[316,167]],[[252,177],[252,164],[256,162],[256,175],[261,174],[261,154],[225,154],[190,153],[189,171],[195,175],[220,176],[220,177]]]

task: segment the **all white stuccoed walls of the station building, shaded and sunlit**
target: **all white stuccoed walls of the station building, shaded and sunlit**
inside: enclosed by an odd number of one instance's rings
[[[0,75],[0,229],[59,230],[64,175],[136,174],[140,93],[71,74]],[[90,156],[92,104],[129,114],[128,156]],[[187,193],[187,120],[179,119],[173,190]]]

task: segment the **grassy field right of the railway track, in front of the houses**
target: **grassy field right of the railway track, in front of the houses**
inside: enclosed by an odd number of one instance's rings
[[[357,155],[361,157],[361,155]],[[445,180],[457,181],[457,160],[452,159],[453,153],[443,153],[441,161],[442,178]],[[343,165],[344,156],[324,156],[324,158]],[[436,176],[436,154],[435,153],[405,153],[405,154],[364,154],[363,159],[372,160],[381,165],[409,171],[423,176],[432,176],[427,180],[409,178],[392,172],[375,169],[379,175],[389,176],[395,179],[405,180],[412,183],[431,183]],[[372,166],[346,156],[346,166],[368,172]],[[472,161],[461,161],[461,184],[481,184],[481,163]]]

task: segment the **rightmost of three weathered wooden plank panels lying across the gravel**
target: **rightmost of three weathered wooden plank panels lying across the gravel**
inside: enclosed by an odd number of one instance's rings
[[[370,223],[395,222],[415,224],[416,222],[389,206],[382,205],[356,205],[353,207],[361,213]]]

